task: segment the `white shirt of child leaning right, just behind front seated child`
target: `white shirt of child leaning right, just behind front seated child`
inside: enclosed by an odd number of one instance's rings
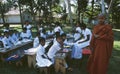
[[[47,55],[48,57],[52,60],[52,62],[54,63],[54,57],[55,54],[61,49],[61,45],[55,41],[54,44],[51,46],[51,48],[49,49]]]

